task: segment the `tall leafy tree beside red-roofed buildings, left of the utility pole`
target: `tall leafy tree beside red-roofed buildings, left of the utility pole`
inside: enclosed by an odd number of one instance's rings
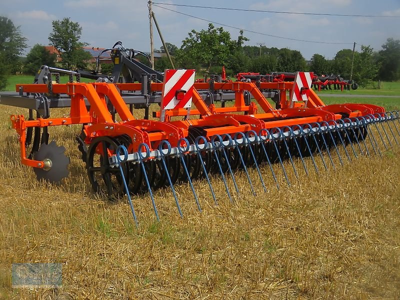
[[[87,43],[79,41],[82,34],[79,23],[64,17],[62,20],[52,21],[52,28],[48,40],[61,52],[62,65],[67,69],[86,67],[85,60],[90,59],[91,55],[82,49]]]

